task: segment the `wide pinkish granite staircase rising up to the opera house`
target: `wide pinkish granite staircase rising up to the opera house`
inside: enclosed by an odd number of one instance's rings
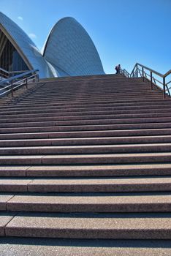
[[[1,99],[0,120],[0,255],[171,254],[170,97],[60,78]]]

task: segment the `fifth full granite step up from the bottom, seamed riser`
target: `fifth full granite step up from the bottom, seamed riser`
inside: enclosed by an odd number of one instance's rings
[[[171,153],[1,156],[0,165],[87,165],[170,162]]]

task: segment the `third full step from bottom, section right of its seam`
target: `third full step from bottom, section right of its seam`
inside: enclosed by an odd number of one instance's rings
[[[29,192],[171,191],[171,178],[42,178],[28,183]],[[10,192],[10,190],[9,190]]]

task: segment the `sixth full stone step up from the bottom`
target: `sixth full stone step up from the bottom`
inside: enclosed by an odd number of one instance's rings
[[[136,143],[136,140],[134,141]],[[54,145],[54,144],[53,144]],[[0,155],[128,154],[171,152],[171,143],[81,145],[81,146],[12,146],[0,148]]]

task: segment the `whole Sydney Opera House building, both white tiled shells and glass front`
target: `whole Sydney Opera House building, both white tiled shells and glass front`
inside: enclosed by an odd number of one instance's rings
[[[59,20],[42,53],[30,37],[0,12],[0,67],[7,71],[39,69],[40,78],[104,75],[94,42],[74,18]]]

